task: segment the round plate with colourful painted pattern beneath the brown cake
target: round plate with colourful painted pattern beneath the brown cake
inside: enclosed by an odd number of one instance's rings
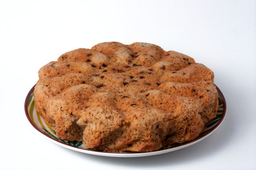
[[[40,132],[42,135],[48,138],[48,140],[54,142],[57,145],[60,145],[62,147],[72,149],[78,152],[105,156],[105,157],[146,157],[146,156],[151,156],[156,154],[173,152],[175,150],[182,149],[184,147],[189,147],[191,145],[196,144],[197,142],[200,142],[203,139],[206,139],[206,137],[211,135],[223,122],[223,119],[225,117],[225,111],[226,111],[225,98],[222,92],[220,91],[220,89],[218,89],[217,87],[218,101],[219,101],[217,116],[205,126],[203,132],[201,132],[201,134],[196,139],[188,142],[184,142],[182,144],[170,145],[165,149],[160,149],[154,152],[142,152],[142,153],[132,153],[132,152],[119,153],[119,152],[103,152],[103,151],[100,152],[100,151],[95,151],[93,149],[89,149],[85,147],[85,145],[83,145],[82,142],[67,142],[67,141],[61,140],[56,135],[54,128],[52,128],[48,123],[46,123],[41,117],[41,115],[35,109],[34,100],[33,100],[33,89],[35,86],[33,86],[31,91],[28,92],[28,96],[26,97],[26,101],[25,101],[26,117],[28,118],[28,121],[31,123],[33,128],[38,130],[38,132]]]

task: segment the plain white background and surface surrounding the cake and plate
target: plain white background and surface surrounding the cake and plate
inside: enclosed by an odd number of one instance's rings
[[[47,140],[23,104],[38,69],[99,42],[150,42],[205,64],[228,111],[196,145],[98,157]],[[1,1],[0,169],[256,169],[256,1]]]

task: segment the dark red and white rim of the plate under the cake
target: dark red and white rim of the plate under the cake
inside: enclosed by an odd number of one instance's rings
[[[168,153],[168,152],[173,152],[173,151],[176,151],[178,149],[183,149],[185,147],[189,147],[191,145],[196,144],[197,142],[201,142],[201,140],[206,139],[206,137],[208,137],[213,132],[215,132],[215,130],[217,130],[217,128],[220,127],[220,124],[223,123],[223,120],[224,120],[225,115],[226,115],[226,110],[227,110],[227,104],[226,104],[226,101],[225,101],[225,97],[224,97],[222,91],[220,91],[220,89],[218,88],[218,86],[215,85],[216,89],[218,91],[218,95],[220,96],[220,98],[223,101],[223,114],[222,114],[220,120],[218,121],[218,123],[209,132],[207,132],[206,134],[202,135],[201,137],[197,137],[194,140],[185,142],[184,144],[178,145],[176,147],[156,150],[156,151],[152,151],[152,152],[139,152],[139,153],[100,152],[100,151],[89,150],[89,149],[82,149],[82,148],[78,148],[78,147],[67,145],[67,144],[65,144],[63,142],[60,142],[60,141],[55,140],[55,139],[53,139],[51,137],[48,137],[48,135],[43,133],[41,130],[39,130],[36,127],[36,125],[34,125],[33,121],[31,120],[31,118],[29,116],[29,113],[28,113],[28,100],[31,97],[31,94],[33,93],[33,90],[34,90],[35,86],[36,86],[36,84],[28,92],[28,94],[26,96],[25,103],[24,103],[26,118],[28,119],[28,122],[33,126],[33,128],[35,128],[38,132],[41,132],[41,134],[43,134],[43,136],[46,137],[48,140],[50,140],[51,142],[54,142],[57,145],[60,145],[61,147],[65,147],[67,149],[72,149],[74,151],[82,152],[82,153],[85,153],[85,154],[93,154],[93,155],[104,156],[104,157],[147,157],[147,156],[153,156],[153,155],[156,155],[156,154],[164,154],[164,153]]]

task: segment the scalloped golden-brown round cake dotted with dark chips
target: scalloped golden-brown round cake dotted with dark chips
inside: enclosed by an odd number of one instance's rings
[[[145,42],[66,52],[39,72],[36,111],[62,140],[110,152],[151,152],[193,140],[215,118],[213,72]]]

